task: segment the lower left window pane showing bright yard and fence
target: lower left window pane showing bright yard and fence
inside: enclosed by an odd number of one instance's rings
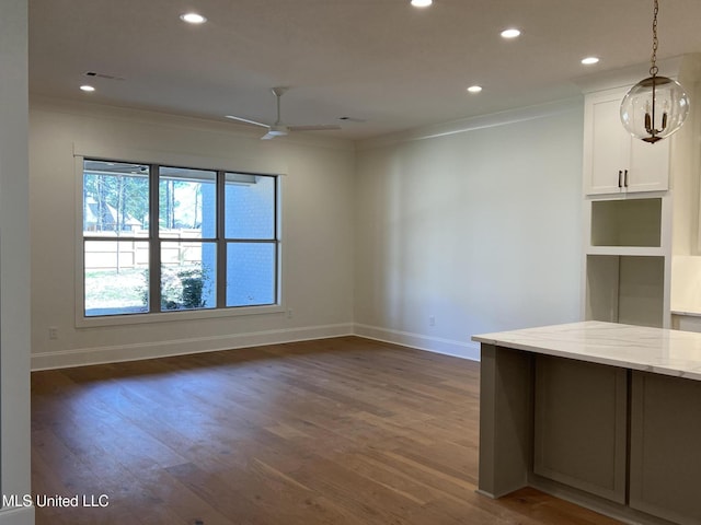
[[[85,316],[148,312],[149,243],[85,241]]]

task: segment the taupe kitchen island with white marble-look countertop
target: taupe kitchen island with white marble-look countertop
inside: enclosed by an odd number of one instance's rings
[[[479,492],[701,524],[701,334],[584,322],[481,342]]]

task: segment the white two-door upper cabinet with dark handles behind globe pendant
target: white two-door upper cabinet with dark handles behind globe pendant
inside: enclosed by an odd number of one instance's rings
[[[669,188],[669,140],[633,139],[619,109],[627,90],[593,93],[585,100],[584,192],[665,191]]]

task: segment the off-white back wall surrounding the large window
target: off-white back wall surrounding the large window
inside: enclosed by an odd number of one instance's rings
[[[154,113],[32,98],[32,350],[35,369],[329,337],[353,331],[350,142],[289,137]],[[126,161],[286,172],[283,230],[286,313],[76,327],[73,152]],[[138,159],[137,159],[138,156]],[[177,317],[173,317],[177,318]],[[58,328],[49,339],[48,327]]]

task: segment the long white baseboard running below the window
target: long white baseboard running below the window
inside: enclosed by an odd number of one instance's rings
[[[235,348],[260,347],[263,345],[278,345],[283,342],[326,339],[330,337],[352,335],[353,324],[344,323],[338,325],[232,334],[216,337],[198,337],[140,345],[79,348],[62,352],[34,353],[32,354],[32,370],[68,369],[89,364],[166,358],[188,353],[214,352],[218,350],[231,350]],[[0,525],[1,523],[2,522],[0,522]]]

